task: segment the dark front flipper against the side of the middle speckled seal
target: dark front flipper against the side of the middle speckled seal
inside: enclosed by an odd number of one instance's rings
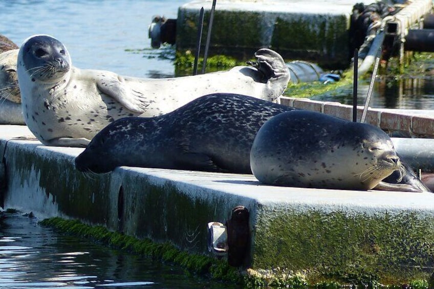
[[[209,155],[197,152],[184,152],[176,161],[176,167],[185,170],[228,172],[215,164]]]

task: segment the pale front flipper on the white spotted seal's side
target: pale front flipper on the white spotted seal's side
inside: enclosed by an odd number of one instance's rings
[[[132,112],[144,113],[149,105],[149,101],[141,92],[133,90],[125,79],[117,74],[109,72],[98,74],[97,87],[102,93],[114,98]]]

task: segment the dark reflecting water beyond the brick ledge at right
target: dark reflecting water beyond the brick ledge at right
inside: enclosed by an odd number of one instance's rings
[[[363,105],[369,84],[359,83],[358,105]],[[316,96],[312,99],[353,103],[353,87],[348,86],[333,94]],[[371,107],[400,109],[434,109],[434,78],[377,79],[371,99]]]

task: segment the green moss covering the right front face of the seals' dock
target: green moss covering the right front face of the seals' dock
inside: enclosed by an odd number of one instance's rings
[[[258,216],[254,268],[306,270],[309,283],[400,285],[428,279],[434,266],[432,215],[311,210]]]

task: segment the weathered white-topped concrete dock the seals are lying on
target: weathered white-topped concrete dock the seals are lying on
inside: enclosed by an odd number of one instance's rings
[[[117,168],[86,177],[80,148],[9,140],[24,126],[0,126],[5,208],[61,216],[184,250],[206,253],[206,224],[232,208],[250,211],[246,266],[286,268],[316,282],[428,278],[434,266],[434,194],[271,187],[252,175]],[[307,270],[307,271],[306,271]]]

